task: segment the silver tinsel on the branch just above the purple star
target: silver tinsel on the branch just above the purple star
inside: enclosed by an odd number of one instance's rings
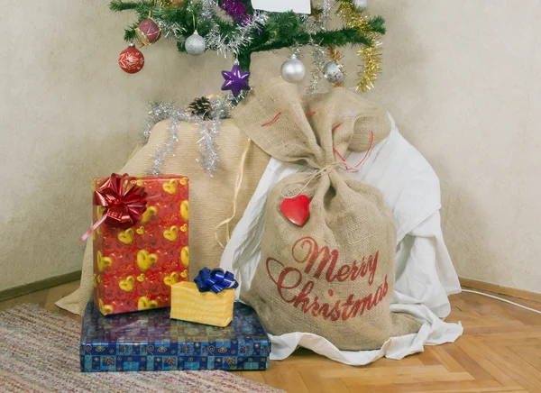
[[[267,13],[256,11],[245,24],[239,24],[230,36],[222,36],[220,28],[216,24],[205,36],[206,48],[216,50],[224,57],[227,56],[228,52],[237,57],[243,47],[252,43],[252,32],[261,29],[267,23],[268,18]]]

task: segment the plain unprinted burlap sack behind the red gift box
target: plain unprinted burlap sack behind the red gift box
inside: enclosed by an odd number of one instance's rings
[[[235,180],[240,170],[241,158],[247,146],[248,137],[231,120],[225,120],[220,127],[220,165],[214,177],[210,177],[197,162],[199,149],[199,127],[182,123],[179,127],[179,142],[161,168],[164,174],[186,175],[189,178],[189,274],[195,278],[204,267],[217,268],[223,249],[215,240],[215,225],[231,215],[234,199]],[[150,141],[126,163],[118,173],[139,175],[148,172],[152,156],[163,143],[167,142],[169,122],[156,124]],[[243,212],[267,167],[270,157],[254,143],[248,148],[243,165],[243,183],[237,197],[236,215],[230,223],[230,231],[243,216]],[[108,174],[96,174],[106,175]],[[90,201],[90,180],[88,200]],[[88,206],[90,209],[90,206]],[[221,242],[225,242],[225,227],[218,231]],[[81,284],[78,291],[64,297],[57,305],[73,313],[82,314],[93,293],[92,236],[87,240],[83,259]]]

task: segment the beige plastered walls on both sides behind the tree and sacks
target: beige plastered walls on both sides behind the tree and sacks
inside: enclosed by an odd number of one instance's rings
[[[107,3],[5,6],[0,290],[78,270],[89,178],[123,164],[149,100],[186,104],[215,93],[219,71],[230,67],[160,41],[144,50],[140,74],[124,74],[116,58],[131,15]],[[541,4],[371,0],[371,10],[389,32],[385,72],[367,97],[389,108],[440,176],[459,275],[541,292]],[[254,56],[252,82],[278,75],[287,54]],[[347,51],[345,62],[355,61]],[[353,74],[350,67],[350,87]]]

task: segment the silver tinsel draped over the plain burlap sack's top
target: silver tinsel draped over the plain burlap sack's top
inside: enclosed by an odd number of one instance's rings
[[[158,151],[152,156],[152,166],[148,174],[154,176],[160,174],[163,163],[174,151],[176,143],[179,142],[179,124],[188,122],[199,126],[200,138],[197,143],[200,149],[200,157],[197,161],[210,176],[213,176],[220,161],[217,145],[220,121],[229,116],[232,98],[230,94],[227,94],[223,97],[211,99],[211,121],[205,121],[202,117],[190,114],[186,109],[181,109],[173,104],[151,103],[149,120],[142,134],[142,143],[149,142],[151,130],[156,123],[170,119],[170,127],[167,141],[160,145]]]

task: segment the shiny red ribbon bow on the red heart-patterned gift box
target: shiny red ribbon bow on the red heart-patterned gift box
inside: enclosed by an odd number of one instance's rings
[[[90,233],[105,223],[114,228],[126,229],[142,219],[147,206],[147,194],[143,187],[134,184],[132,177],[124,173],[112,174],[94,192],[95,206],[104,206],[104,215],[80,239],[84,242]]]

